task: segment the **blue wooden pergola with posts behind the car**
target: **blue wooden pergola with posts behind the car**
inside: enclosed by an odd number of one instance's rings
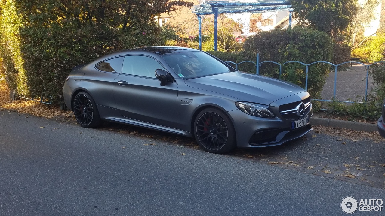
[[[202,15],[214,14],[214,50],[218,45],[218,14],[221,13],[263,13],[267,11],[289,10],[289,26],[291,26],[290,0],[265,1],[204,1],[201,5],[194,5],[192,13],[198,16],[199,22],[199,50],[202,49]]]

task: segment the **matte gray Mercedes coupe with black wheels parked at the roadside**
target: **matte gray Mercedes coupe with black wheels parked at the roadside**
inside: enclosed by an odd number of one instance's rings
[[[211,153],[301,137],[313,113],[303,88],[184,47],[122,50],[76,66],[63,95],[83,127],[105,120],[191,136]]]

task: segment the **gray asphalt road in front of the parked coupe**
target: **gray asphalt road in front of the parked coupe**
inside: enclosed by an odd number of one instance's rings
[[[0,216],[346,215],[344,197],[384,194],[150,138],[0,116]]]

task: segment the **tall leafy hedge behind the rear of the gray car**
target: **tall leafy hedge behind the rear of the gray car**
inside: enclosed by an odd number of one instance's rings
[[[50,95],[52,102],[60,103],[71,68],[117,50],[162,45],[161,28],[154,16],[192,4],[169,0],[1,0],[0,71],[3,68],[10,89],[18,94]]]

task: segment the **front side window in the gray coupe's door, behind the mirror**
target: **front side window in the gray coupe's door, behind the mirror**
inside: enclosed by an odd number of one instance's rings
[[[124,56],[122,73],[156,78],[156,69],[165,70],[164,67],[153,58],[140,55]]]

